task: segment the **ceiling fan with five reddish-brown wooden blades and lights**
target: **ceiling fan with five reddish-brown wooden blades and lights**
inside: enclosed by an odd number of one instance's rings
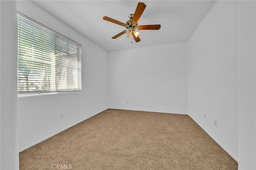
[[[135,42],[139,42],[140,41],[140,38],[139,38],[140,33],[138,31],[136,31],[136,29],[138,29],[138,30],[159,30],[161,28],[161,25],[138,26],[138,21],[140,19],[140,16],[144,12],[145,8],[146,8],[146,5],[143,2],[139,2],[134,14],[129,14],[130,20],[128,20],[125,24],[120,21],[109,18],[107,16],[104,16],[103,20],[113,22],[114,24],[118,24],[120,26],[127,28],[127,30],[124,30],[124,31],[120,32],[119,34],[116,34],[114,37],[112,37],[112,39],[116,39],[116,38],[122,36],[123,34],[127,33],[127,36],[126,36],[127,38],[130,39],[131,35],[132,35]]]

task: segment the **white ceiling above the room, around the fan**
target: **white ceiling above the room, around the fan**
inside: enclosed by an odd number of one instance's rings
[[[106,51],[186,42],[216,0],[144,0],[144,1],[89,1],[89,0],[33,0],[52,14]],[[144,10],[138,25],[161,24],[160,30],[140,30],[140,42],[111,37],[126,30],[125,27],[103,20],[108,16],[125,23],[134,13],[138,2]],[[131,43],[132,42],[132,43]]]

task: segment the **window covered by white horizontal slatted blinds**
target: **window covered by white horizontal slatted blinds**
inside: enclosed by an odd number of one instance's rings
[[[81,45],[17,14],[18,92],[81,91]]]

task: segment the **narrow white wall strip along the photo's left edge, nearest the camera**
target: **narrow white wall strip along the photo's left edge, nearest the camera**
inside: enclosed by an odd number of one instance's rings
[[[18,170],[16,1],[0,1],[0,169]]]

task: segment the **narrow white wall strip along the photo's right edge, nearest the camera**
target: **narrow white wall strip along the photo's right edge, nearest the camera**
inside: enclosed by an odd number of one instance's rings
[[[238,168],[256,169],[256,3],[239,1]]]

